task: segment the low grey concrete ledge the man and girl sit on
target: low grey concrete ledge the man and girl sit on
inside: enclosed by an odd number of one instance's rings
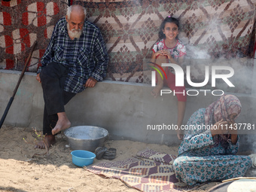
[[[44,100],[41,85],[35,80],[35,76],[35,73],[29,72],[23,76],[5,125],[42,129]],[[0,70],[0,115],[4,113],[19,77],[20,72]],[[166,94],[154,99],[150,94],[151,89],[150,85],[145,84],[102,81],[96,87],[78,93],[66,105],[66,112],[72,126],[102,126],[108,130],[111,139],[178,145],[180,141],[174,130],[147,129],[149,125],[175,125],[177,120],[176,96]],[[237,122],[255,123],[255,96],[235,95],[242,102],[242,114]],[[203,93],[188,96],[184,124],[194,111],[207,107],[216,99],[218,96],[204,96]],[[250,148],[255,148],[254,136],[252,138],[241,136],[244,142],[242,145],[250,142]]]

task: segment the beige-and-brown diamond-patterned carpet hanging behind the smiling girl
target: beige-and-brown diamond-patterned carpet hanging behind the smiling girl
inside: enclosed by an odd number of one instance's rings
[[[75,1],[102,30],[110,63],[108,78],[142,82],[143,59],[151,57],[167,16],[181,21],[180,37],[192,58],[252,56],[256,1]],[[195,75],[194,78],[200,78]]]

